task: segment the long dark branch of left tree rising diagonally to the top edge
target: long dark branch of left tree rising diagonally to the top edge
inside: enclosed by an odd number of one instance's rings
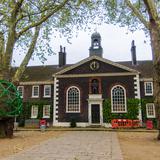
[[[29,29],[41,25],[48,18],[50,18],[54,13],[58,12],[61,8],[63,8],[68,1],[69,0],[64,0],[63,3],[61,3],[58,6],[56,6],[50,13],[48,13],[46,16],[41,18],[38,22],[32,23],[29,26],[23,28],[19,33],[17,33],[17,38],[19,38],[24,32],[28,31]]]

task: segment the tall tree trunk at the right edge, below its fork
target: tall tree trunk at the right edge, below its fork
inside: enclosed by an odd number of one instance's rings
[[[159,130],[157,139],[160,140],[160,29],[154,22],[151,23],[151,28],[150,37],[154,65],[154,104],[158,122],[157,128]]]

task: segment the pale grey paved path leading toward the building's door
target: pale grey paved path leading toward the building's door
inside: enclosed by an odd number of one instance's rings
[[[123,160],[116,133],[72,131],[3,160]]]

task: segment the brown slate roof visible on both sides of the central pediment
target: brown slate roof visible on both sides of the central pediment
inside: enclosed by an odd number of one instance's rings
[[[151,78],[153,76],[153,62],[151,60],[138,61],[138,65],[133,66],[131,61],[116,62],[129,68],[135,69],[141,73],[142,78]],[[58,65],[46,66],[28,66],[21,78],[22,82],[53,81],[52,75],[62,69],[71,66],[68,64],[59,68]]]

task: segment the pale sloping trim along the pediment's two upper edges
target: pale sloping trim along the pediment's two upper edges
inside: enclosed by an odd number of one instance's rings
[[[89,61],[91,61],[91,60],[93,60],[93,59],[96,59],[96,60],[99,60],[99,61],[101,61],[101,62],[110,64],[110,65],[112,65],[112,66],[115,66],[115,67],[118,67],[118,68],[127,70],[127,71],[129,71],[129,72],[139,73],[138,71],[136,71],[136,70],[134,70],[134,69],[131,69],[131,68],[129,68],[129,67],[126,67],[126,66],[124,66],[124,65],[121,65],[121,64],[118,64],[118,63],[116,63],[116,62],[110,61],[110,60],[108,60],[108,59],[104,59],[104,58],[101,58],[101,57],[99,57],[99,56],[94,55],[94,56],[90,56],[90,57],[88,57],[88,58],[86,58],[86,59],[84,59],[84,60],[82,60],[82,61],[80,61],[80,62],[78,62],[78,63],[76,63],[76,64],[74,64],[74,65],[72,65],[72,66],[69,66],[69,67],[67,67],[67,68],[65,68],[65,69],[57,72],[55,75],[63,74],[63,73],[65,73],[65,72],[70,71],[70,70],[72,70],[72,69],[74,69],[74,68],[76,68],[76,67],[78,67],[78,66],[80,66],[80,65],[82,65],[82,64],[84,64],[84,63],[86,63],[86,62],[89,62]]]

